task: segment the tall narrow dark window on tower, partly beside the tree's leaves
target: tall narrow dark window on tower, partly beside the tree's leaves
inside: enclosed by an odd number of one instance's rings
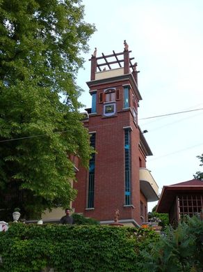
[[[95,149],[95,133],[90,137],[90,146]],[[88,208],[94,208],[95,195],[95,153],[92,153],[89,163],[89,183],[88,183]]]

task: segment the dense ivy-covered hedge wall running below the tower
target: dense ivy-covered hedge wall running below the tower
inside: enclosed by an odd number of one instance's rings
[[[4,272],[140,271],[140,251],[154,232],[133,227],[13,224],[0,233]]]

